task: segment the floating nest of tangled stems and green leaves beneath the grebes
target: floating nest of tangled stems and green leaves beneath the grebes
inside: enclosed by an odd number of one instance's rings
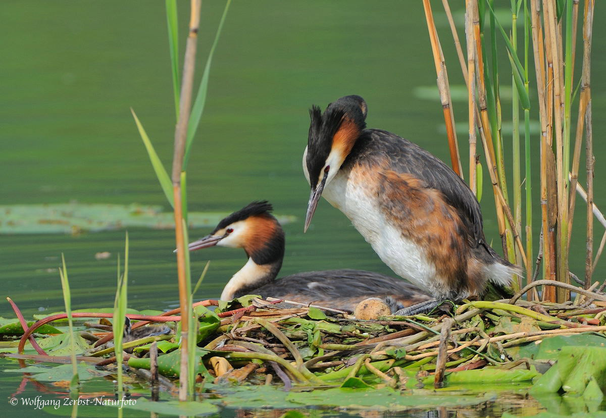
[[[566,304],[514,297],[443,304],[427,315],[371,320],[254,296],[221,306],[216,300],[204,300],[194,305],[199,319],[198,382],[396,390],[460,383],[540,383],[566,351],[562,347],[606,350],[606,297],[579,291],[576,300]],[[38,333],[66,315],[45,317],[28,326],[13,307],[25,332],[19,337],[18,353],[4,356],[64,362],[67,356],[53,356],[39,347],[45,336]],[[179,376],[181,353],[175,327],[170,325],[181,319],[178,314],[178,310],[151,316],[127,314],[132,321],[124,342],[128,369],[169,392],[176,390]],[[82,354],[78,359],[106,370],[115,368],[111,324],[105,319],[90,322],[112,314],[77,312],[73,317],[88,319],[77,331],[77,338],[86,342],[78,344]],[[23,354],[27,340],[39,354]],[[553,343],[545,344],[546,340]],[[554,391],[566,390],[565,386],[561,383]]]

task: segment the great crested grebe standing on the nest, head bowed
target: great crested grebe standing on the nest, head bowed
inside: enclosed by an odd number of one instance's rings
[[[345,96],[314,106],[303,171],[311,185],[307,230],[321,196],[347,216],[396,274],[435,296],[399,311],[508,285],[520,270],[487,244],[478,200],[435,156],[393,133],[366,128],[367,105]]]

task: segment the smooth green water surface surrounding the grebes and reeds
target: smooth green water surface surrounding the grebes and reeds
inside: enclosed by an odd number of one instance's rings
[[[460,85],[450,30],[440,24],[445,22],[439,16],[441,3],[433,3],[450,82]],[[179,6],[184,41],[188,8],[185,2]],[[222,2],[203,4],[199,73],[222,7]],[[163,2],[2,2],[0,10],[7,16],[0,45],[0,203],[76,200],[166,205],[129,111],[133,107],[138,113],[169,167],[175,112]],[[606,185],[599,181],[604,178],[605,145],[599,139],[606,132],[600,117],[606,108],[601,76],[605,58],[595,51],[605,35],[604,25],[596,25],[591,87],[598,161],[595,201],[601,207],[606,207]],[[499,62],[506,73],[507,56],[499,57]],[[576,68],[578,75],[581,67]],[[510,85],[507,76],[501,82]],[[414,94],[416,87],[434,85],[420,2],[235,2],[213,61],[206,110],[188,168],[190,210],[227,213],[255,199],[268,199],[277,213],[299,216],[298,222],[285,227],[282,274],[344,267],[391,274],[345,216],[324,201],[310,231],[302,233],[308,199],[301,169],[307,109],[311,104],[324,107],[343,95],[361,95],[368,104],[369,127],[398,133],[448,161],[438,99]],[[509,120],[511,105],[504,101],[502,106],[504,119]],[[458,121],[467,120],[466,102],[455,101],[454,110]],[[538,119],[536,113],[533,110],[533,119]],[[508,136],[505,141],[509,154]],[[536,136],[533,141],[538,153]],[[467,155],[465,142],[460,134],[462,156]],[[538,170],[538,159],[534,161]],[[487,177],[484,183],[484,230],[496,243]],[[538,185],[538,177],[534,184]],[[578,209],[579,232],[573,235],[570,265],[582,276],[584,207]],[[538,210],[535,214],[538,225]],[[602,231],[596,226],[596,240]],[[190,231],[190,235],[207,232]],[[174,307],[178,290],[173,234],[155,230],[129,234],[129,306]],[[4,293],[25,316],[60,310],[56,267],[64,253],[73,308],[110,306],[116,254],[123,246],[124,230],[0,236]],[[112,255],[96,260],[101,251]],[[245,262],[241,251],[211,248],[193,254],[193,276],[208,259],[211,266],[204,289],[196,295],[199,298],[218,296]],[[601,278],[603,266],[598,265],[596,277]],[[14,316],[8,304],[0,304],[0,314]],[[3,393],[18,384],[2,382]]]

